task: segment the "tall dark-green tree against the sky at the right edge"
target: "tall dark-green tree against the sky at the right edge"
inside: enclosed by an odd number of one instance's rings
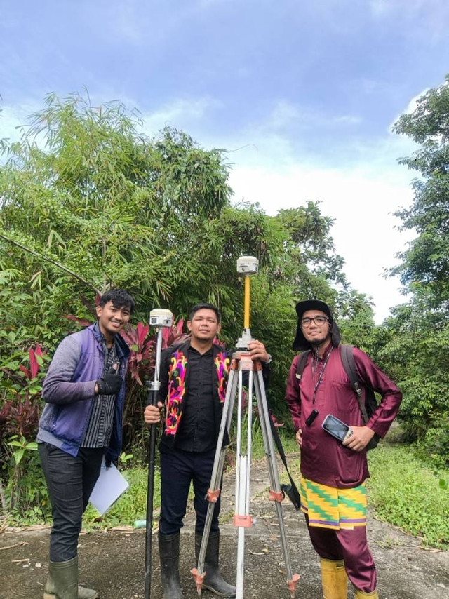
[[[420,97],[412,114],[403,114],[394,131],[408,135],[421,145],[400,160],[417,170],[413,181],[415,198],[409,209],[396,213],[404,229],[417,237],[401,255],[394,269],[417,296],[427,297],[429,307],[449,307],[449,76],[445,83]]]

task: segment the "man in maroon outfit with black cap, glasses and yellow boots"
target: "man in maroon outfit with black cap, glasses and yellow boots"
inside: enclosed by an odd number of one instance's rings
[[[328,304],[299,302],[293,349],[311,350],[302,375],[293,359],[286,399],[301,448],[301,501],[310,539],[321,558],[325,599],[347,599],[347,578],[356,598],[377,598],[377,576],[366,541],[366,446],[383,437],[398,413],[402,394],[363,351],[354,348],[358,378],[381,396],[363,422],[356,393],[340,357],[340,330]],[[363,401],[364,401],[363,389]],[[322,428],[326,415],[349,425],[340,442]]]

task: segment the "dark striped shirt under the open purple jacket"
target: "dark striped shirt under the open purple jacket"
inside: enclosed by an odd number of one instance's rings
[[[103,375],[110,370],[114,363],[118,363],[115,343],[109,349],[103,339],[105,365]],[[112,435],[114,425],[115,395],[98,395],[93,402],[91,418],[84,433],[81,447],[107,447]]]

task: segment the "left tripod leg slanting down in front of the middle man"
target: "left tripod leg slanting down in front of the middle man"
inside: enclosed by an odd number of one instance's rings
[[[206,514],[206,521],[204,523],[203,539],[201,541],[201,548],[199,550],[198,564],[196,568],[192,568],[192,570],[190,571],[193,574],[194,579],[196,581],[196,589],[199,595],[201,595],[201,588],[203,586],[204,576],[206,574],[206,572],[204,572],[204,561],[206,558],[206,551],[209,542],[210,526],[212,525],[215,503],[217,502],[217,499],[220,494],[220,484],[222,480],[223,467],[225,466],[226,447],[223,447],[223,441],[225,440],[225,431],[229,433],[229,428],[231,426],[236,386],[236,370],[231,370],[231,372],[229,373],[229,381],[227,384],[225,404],[223,405],[223,414],[220,422],[220,431],[218,433],[217,450],[215,451],[212,476],[210,477],[210,487],[207,497],[209,505]]]

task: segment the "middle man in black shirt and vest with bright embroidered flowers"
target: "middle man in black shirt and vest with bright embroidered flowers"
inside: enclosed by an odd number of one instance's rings
[[[192,335],[185,343],[164,351],[161,358],[161,391],[157,406],[145,408],[145,422],[160,422],[166,405],[161,437],[161,516],[159,556],[164,599],[182,599],[179,548],[182,519],[187,509],[191,481],[196,511],[195,550],[199,555],[208,509],[206,494],[212,475],[217,438],[225,402],[230,354],[214,344],[220,332],[220,312],[212,304],[197,304],[187,327]],[[259,341],[250,342],[251,357],[269,363],[271,356]],[[220,498],[215,504],[208,548],[204,587],[220,597],[235,597],[236,588],[221,576],[218,567]]]

